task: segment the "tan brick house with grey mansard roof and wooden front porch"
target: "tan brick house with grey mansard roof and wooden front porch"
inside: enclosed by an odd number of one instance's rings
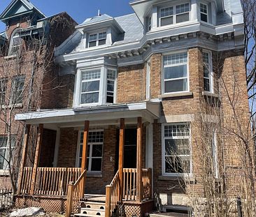
[[[69,216],[80,206],[85,216],[107,217],[120,202],[127,216],[143,216],[154,201],[160,209],[182,209],[188,206],[183,177],[204,197],[197,149],[202,132],[195,127],[202,105],[206,111],[221,108],[222,121],[228,119],[227,98],[236,80],[235,110],[241,122],[248,117],[241,3],[130,5],[134,14],[98,15],[78,24],[55,48],[55,73],[65,89],[50,93],[52,104],[43,110],[15,116],[27,125],[18,207],[41,206]],[[208,124],[219,118],[213,114],[204,112]],[[34,165],[28,167],[31,126],[38,126],[38,134]],[[219,142],[216,134],[210,132],[218,182],[220,161],[230,168],[239,161],[218,153],[218,147],[229,149],[229,142]]]

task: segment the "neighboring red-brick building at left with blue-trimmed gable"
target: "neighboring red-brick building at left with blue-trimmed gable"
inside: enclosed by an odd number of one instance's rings
[[[52,94],[59,80],[53,50],[74,31],[76,22],[66,13],[45,17],[27,0],[13,0],[1,13],[6,31],[0,33],[0,189],[11,188],[8,173],[12,138],[13,174],[20,166],[23,126],[16,113],[57,107]],[[66,28],[69,27],[69,28]],[[63,91],[64,87],[62,87]],[[50,93],[48,93],[50,91]],[[10,116],[10,117],[9,117]],[[11,125],[7,127],[8,125]],[[10,131],[10,136],[8,135]],[[15,178],[13,179],[14,181]]]

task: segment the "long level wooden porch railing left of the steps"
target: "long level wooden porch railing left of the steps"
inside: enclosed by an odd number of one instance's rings
[[[21,182],[21,193],[29,194],[31,187],[32,167],[24,167]],[[66,196],[70,181],[78,180],[81,168],[38,167],[36,171],[36,195]]]

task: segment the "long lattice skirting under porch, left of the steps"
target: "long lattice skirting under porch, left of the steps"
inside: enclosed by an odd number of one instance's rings
[[[29,196],[16,195],[15,206],[24,207],[42,207],[47,212],[62,213],[66,210],[65,197],[48,197],[48,196]]]

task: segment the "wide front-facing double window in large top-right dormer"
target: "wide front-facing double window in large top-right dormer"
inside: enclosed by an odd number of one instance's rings
[[[159,25],[160,27],[186,22],[190,20],[190,3],[183,3],[167,8],[160,8]]]

